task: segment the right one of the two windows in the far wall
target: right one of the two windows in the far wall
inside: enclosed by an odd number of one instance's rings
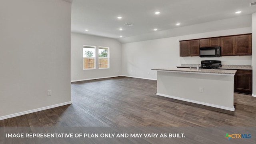
[[[99,46],[99,69],[109,68],[109,48]]]

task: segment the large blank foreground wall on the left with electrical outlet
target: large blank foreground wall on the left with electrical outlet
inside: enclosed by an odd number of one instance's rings
[[[0,119],[71,101],[70,25],[69,2],[1,2]]]

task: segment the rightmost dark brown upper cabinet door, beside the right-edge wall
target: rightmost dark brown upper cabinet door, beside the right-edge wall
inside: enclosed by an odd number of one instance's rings
[[[236,55],[252,55],[252,36],[236,36]]]

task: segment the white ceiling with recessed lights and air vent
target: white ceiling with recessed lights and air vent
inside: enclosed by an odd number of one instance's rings
[[[128,38],[252,14],[251,2],[256,0],[73,0],[71,32]]]

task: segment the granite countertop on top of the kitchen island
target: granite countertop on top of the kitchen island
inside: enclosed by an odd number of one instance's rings
[[[152,68],[151,70],[169,71],[169,72],[184,72],[184,73],[202,73],[202,74],[220,74],[220,75],[235,75],[236,70],[222,69],[197,69],[197,68]]]

